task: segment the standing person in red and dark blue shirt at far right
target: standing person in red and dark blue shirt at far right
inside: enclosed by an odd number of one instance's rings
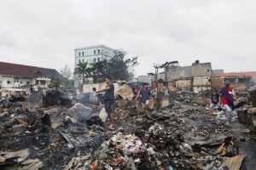
[[[230,81],[224,82],[224,88],[220,89],[219,92],[219,104],[222,105],[222,108],[225,111],[227,117],[227,125],[230,126],[232,120],[232,113],[235,109],[234,101],[236,100],[236,94],[233,88],[230,87]]]

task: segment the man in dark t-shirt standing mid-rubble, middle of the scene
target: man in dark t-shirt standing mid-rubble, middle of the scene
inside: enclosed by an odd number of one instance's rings
[[[141,102],[143,103],[144,111],[148,111],[149,99],[150,99],[150,90],[148,89],[148,83],[143,83],[143,88],[139,91],[137,98],[140,97]]]

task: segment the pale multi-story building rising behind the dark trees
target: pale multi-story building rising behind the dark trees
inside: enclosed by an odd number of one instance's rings
[[[105,45],[75,48],[75,67],[79,65],[79,62],[92,64],[101,61],[102,59],[111,59],[114,56],[115,51],[117,50]]]

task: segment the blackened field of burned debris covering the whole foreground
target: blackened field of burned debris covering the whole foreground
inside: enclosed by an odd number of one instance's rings
[[[1,169],[247,170],[255,166],[255,110],[246,91],[236,94],[242,106],[234,112],[231,127],[224,115],[209,113],[209,91],[159,94],[146,113],[135,110],[136,99],[123,99],[127,93],[120,94],[114,110],[117,123],[111,130],[102,105],[89,104],[88,94],[72,100],[33,95],[1,104]]]

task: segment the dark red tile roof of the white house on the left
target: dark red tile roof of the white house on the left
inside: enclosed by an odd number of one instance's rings
[[[0,75],[32,78],[38,74],[51,79],[62,78],[61,74],[55,69],[0,62]]]

